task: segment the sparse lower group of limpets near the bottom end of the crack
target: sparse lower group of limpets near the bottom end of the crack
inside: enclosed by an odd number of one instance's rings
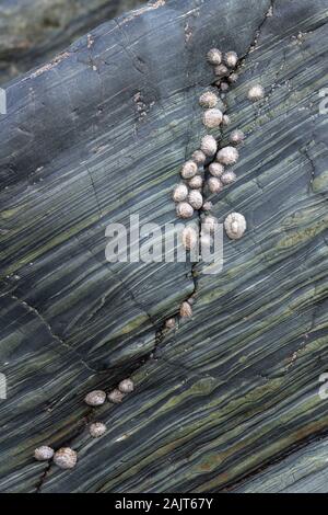
[[[109,402],[117,404],[122,401],[127,393],[131,393],[133,390],[134,384],[132,379],[124,379],[119,382],[118,388],[110,391],[108,396],[103,390],[94,390],[87,393],[84,402],[92,408],[96,408],[103,405],[107,397]],[[93,422],[89,427],[89,433],[93,438],[98,438],[106,433],[106,424],[103,422]],[[61,469],[72,469],[78,461],[77,451],[70,447],[61,447],[55,453],[51,447],[43,445],[35,449],[34,457],[37,461],[49,461],[54,458],[54,462]]]

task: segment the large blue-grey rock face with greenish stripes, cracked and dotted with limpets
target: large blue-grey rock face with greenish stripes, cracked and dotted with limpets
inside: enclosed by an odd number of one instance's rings
[[[1,491],[257,491],[266,467],[267,490],[281,467],[273,490],[293,491],[291,451],[313,489],[321,461],[309,465],[318,447],[306,446],[328,433],[327,14],[324,0],[157,1],[8,89]],[[204,134],[213,46],[244,56],[224,140],[246,134],[238,180],[213,195],[213,214],[243,214],[247,231],[225,238],[216,275],[202,263],[108,263],[108,224],[176,220],[171,193]],[[266,98],[250,104],[255,83]],[[192,319],[164,332],[192,293]],[[121,403],[83,403],[129,376]],[[101,439],[90,420],[106,423]],[[40,445],[78,450],[77,467],[45,474]]]

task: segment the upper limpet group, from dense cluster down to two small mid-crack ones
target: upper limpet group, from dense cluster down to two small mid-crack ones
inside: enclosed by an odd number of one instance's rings
[[[212,48],[207,60],[213,66],[215,81],[214,84],[220,89],[222,94],[227,91],[230,84],[238,80],[236,67],[238,56],[235,52],[227,52],[224,56],[218,48]],[[261,85],[256,84],[248,91],[248,99],[256,102],[262,99],[265,91]],[[224,114],[224,108],[220,108],[224,104],[222,100],[213,91],[206,91],[199,99],[199,104],[204,108],[202,123],[208,129],[214,129],[220,126],[227,126],[230,117]],[[242,130],[235,129],[231,133],[229,145],[219,148],[214,136],[208,134],[200,142],[191,158],[186,161],[181,168],[181,178],[184,182],[177,184],[173,191],[173,199],[176,203],[176,213],[179,218],[188,219],[194,216],[195,210],[204,211],[201,226],[201,242],[211,240],[216,219],[209,215],[212,209],[212,203],[204,201],[204,192],[220,193],[224,186],[236,181],[236,175],[232,170],[225,167],[234,165],[239,158],[236,146],[243,142],[245,135]],[[204,167],[209,171],[206,179],[201,173]],[[242,238],[246,231],[245,217],[239,213],[230,214],[224,220],[224,229],[227,237],[232,240]],[[183,244],[187,250],[191,250],[199,242],[197,230],[194,227],[186,227],[183,231]],[[192,298],[184,301],[180,306],[180,317],[192,316]],[[166,329],[175,328],[175,319],[171,318],[165,322]]]

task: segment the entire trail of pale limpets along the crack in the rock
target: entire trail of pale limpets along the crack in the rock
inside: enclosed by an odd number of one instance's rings
[[[227,52],[223,58],[219,49],[212,48],[208,53],[208,61],[214,67],[214,83],[224,94],[230,84],[238,79],[238,75],[235,71],[238,62],[237,54],[235,52]],[[251,102],[261,100],[263,96],[263,88],[259,84],[253,85],[248,91],[248,99]],[[142,111],[143,105],[140,102],[140,96],[138,95],[134,100],[140,103],[140,111]],[[204,92],[199,99],[199,104],[206,110],[202,123],[208,129],[230,124],[230,117],[218,107],[219,103],[219,96],[212,91]],[[245,136],[242,130],[233,130],[230,135],[230,145],[219,149],[216,139],[212,135],[206,135],[201,139],[200,148],[183,165],[181,178],[185,182],[175,186],[173,199],[176,203],[176,213],[179,218],[191,218],[195,210],[202,210],[207,214],[202,220],[201,241],[210,241],[210,234],[216,224],[216,219],[208,214],[212,209],[212,203],[204,202],[203,199],[204,185],[210,193],[219,193],[225,185],[236,181],[235,173],[231,170],[226,171],[224,167],[230,167],[237,162],[239,153],[235,147],[243,142],[244,138]],[[210,176],[204,181],[200,173],[200,168],[207,164]],[[229,238],[233,240],[242,238],[246,231],[245,217],[239,213],[230,214],[224,220],[224,228]],[[183,244],[187,250],[191,250],[198,244],[198,233],[194,227],[186,227],[184,229]],[[192,304],[194,297],[181,304],[179,310],[181,318],[192,317]],[[165,328],[174,329],[175,324],[175,318],[169,318],[165,322]],[[125,379],[108,396],[103,390],[94,390],[87,393],[84,401],[93,408],[104,404],[106,397],[110,402],[119,403],[133,389],[133,381]],[[106,432],[106,425],[102,422],[94,422],[90,425],[89,432],[92,437],[98,438]],[[44,445],[35,449],[34,457],[38,461],[48,461],[54,458],[54,462],[62,469],[71,469],[78,461],[78,454],[70,447],[62,447],[55,453],[51,447]]]

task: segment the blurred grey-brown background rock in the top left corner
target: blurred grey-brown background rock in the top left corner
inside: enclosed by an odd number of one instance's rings
[[[140,0],[5,0],[0,4],[0,83],[51,59],[74,38]]]

